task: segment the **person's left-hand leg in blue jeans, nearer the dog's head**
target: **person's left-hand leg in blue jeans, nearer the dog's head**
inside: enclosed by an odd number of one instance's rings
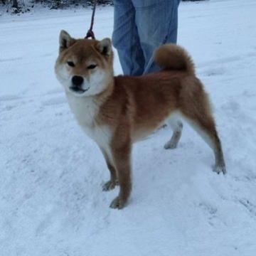
[[[135,9],[130,0],[114,0],[112,43],[117,48],[124,75],[142,75],[144,55],[135,24]]]

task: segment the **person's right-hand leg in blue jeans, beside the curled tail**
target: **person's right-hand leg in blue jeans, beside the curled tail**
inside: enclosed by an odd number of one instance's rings
[[[144,73],[160,69],[154,50],[163,43],[176,43],[179,0],[132,0],[139,40],[145,58]]]

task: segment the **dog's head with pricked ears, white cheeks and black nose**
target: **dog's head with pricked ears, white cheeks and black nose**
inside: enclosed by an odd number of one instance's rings
[[[113,77],[111,41],[74,39],[60,31],[55,73],[65,90],[78,97],[103,92]]]

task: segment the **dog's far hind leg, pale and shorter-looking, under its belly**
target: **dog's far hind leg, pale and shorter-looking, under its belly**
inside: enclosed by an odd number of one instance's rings
[[[164,148],[176,149],[178,142],[181,139],[183,124],[179,119],[175,117],[169,117],[169,119],[166,120],[166,123],[173,130],[173,134],[169,142],[166,142],[164,145]]]

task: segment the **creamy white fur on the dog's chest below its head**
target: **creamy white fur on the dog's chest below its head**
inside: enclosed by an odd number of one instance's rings
[[[78,120],[78,124],[98,146],[108,150],[111,132],[107,125],[97,123],[95,117],[97,117],[100,109],[97,102],[92,97],[75,97],[70,93],[67,93],[67,97],[70,108]]]

